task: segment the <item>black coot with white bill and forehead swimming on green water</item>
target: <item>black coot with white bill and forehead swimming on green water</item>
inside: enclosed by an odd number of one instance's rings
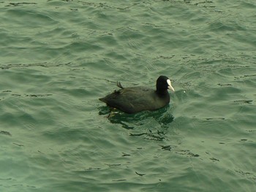
[[[100,98],[109,107],[126,113],[135,113],[145,110],[158,110],[169,104],[170,96],[167,89],[174,91],[168,77],[160,76],[157,79],[157,90],[142,86],[124,88],[120,82],[118,91]]]

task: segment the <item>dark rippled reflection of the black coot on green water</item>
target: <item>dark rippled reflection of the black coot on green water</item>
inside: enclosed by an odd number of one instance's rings
[[[163,140],[174,117],[169,112],[169,105],[156,111],[127,114],[109,107],[99,107],[99,115],[105,115],[110,123],[119,124],[128,129],[132,137]]]

